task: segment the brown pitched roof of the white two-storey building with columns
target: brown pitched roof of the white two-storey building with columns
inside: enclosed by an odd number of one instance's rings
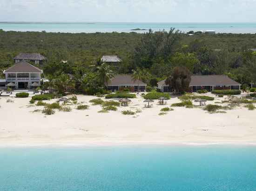
[[[41,73],[42,70],[39,68],[28,64],[26,61],[22,61],[13,65],[11,68],[8,68],[4,71],[4,73],[15,73],[15,72],[34,72],[34,73]]]

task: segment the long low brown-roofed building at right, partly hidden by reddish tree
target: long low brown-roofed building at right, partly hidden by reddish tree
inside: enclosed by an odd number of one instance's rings
[[[165,84],[165,80],[157,83],[162,92],[170,92],[171,88]],[[241,84],[224,75],[191,76],[189,83],[191,91],[207,89],[209,92],[215,89],[240,89]]]

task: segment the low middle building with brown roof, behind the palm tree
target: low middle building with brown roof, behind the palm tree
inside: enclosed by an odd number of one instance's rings
[[[143,83],[139,80],[133,80],[131,75],[116,75],[114,76],[108,84],[108,90],[111,91],[119,91],[124,88],[130,89],[130,91],[145,91],[146,90],[146,83]]]

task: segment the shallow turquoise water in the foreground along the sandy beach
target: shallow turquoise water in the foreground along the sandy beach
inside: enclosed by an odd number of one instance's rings
[[[0,148],[0,191],[256,191],[256,147]]]

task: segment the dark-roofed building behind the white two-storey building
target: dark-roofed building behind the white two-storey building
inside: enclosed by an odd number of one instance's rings
[[[20,53],[18,56],[13,58],[15,63],[19,63],[23,60],[34,62],[34,64],[42,64],[46,57],[39,53]]]

